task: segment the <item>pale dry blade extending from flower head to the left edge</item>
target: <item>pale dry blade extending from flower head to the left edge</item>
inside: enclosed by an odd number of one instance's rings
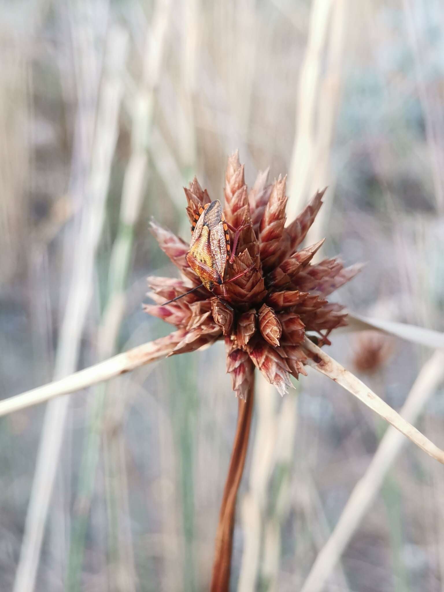
[[[79,372],[74,372],[65,378],[49,382],[42,387],[33,388],[31,391],[22,392],[20,395],[0,401],[0,417],[38,405],[53,398],[66,395],[69,392],[79,391],[82,388],[90,387],[92,384],[103,382],[130,372],[139,366],[154,362],[168,356],[172,349],[182,340],[184,333],[176,331],[166,337],[160,337],[155,341],[144,343],[120,353],[117,356],[108,358],[104,362],[89,366]]]

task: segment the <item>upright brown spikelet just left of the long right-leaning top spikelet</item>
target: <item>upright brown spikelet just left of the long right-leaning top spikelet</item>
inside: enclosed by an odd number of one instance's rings
[[[260,260],[265,273],[272,271],[276,262],[281,262],[282,252],[287,250],[285,241],[288,242],[288,237],[283,235],[287,219],[285,217],[285,206],[288,200],[285,195],[286,182],[287,176],[282,178],[280,175],[274,182],[259,224]]]

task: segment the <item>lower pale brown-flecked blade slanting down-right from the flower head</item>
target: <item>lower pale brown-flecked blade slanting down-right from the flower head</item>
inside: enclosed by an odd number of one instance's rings
[[[386,422],[394,426],[404,436],[407,436],[408,439],[419,446],[424,452],[427,452],[432,458],[444,464],[444,451],[433,444],[433,442],[430,442],[426,436],[401,417],[390,405],[382,401],[359,378],[356,378],[355,375],[343,368],[340,363],[330,358],[326,352],[314,345],[308,337],[305,337],[304,348],[309,356],[306,363],[311,368],[316,369],[321,374],[325,374],[334,382],[340,384],[367,407],[375,411],[382,419],[385,419]]]

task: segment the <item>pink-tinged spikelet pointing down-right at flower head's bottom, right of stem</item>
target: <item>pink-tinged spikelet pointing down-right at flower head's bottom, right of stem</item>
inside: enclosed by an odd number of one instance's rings
[[[275,348],[258,335],[247,343],[246,349],[256,368],[262,372],[270,384],[275,385],[279,394],[284,396],[288,392],[288,387],[292,387],[287,362],[281,358]]]

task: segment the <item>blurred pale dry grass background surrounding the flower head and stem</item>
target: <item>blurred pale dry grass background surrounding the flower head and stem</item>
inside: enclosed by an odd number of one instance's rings
[[[236,148],[249,185],[289,172],[289,215],[329,185],[308,239],[367,263],[338,300],[444,330],[439,0],[21,0],[0,52],[1,397],[168,332],[141,311],[146,276],[176,274],[147,223],[188,239],[182,185],[220,198]],[[330,353],[353,370],[362,347]],[[429,356],[392,342],[360,376],[398,409]],[[419,428],[442,446],[439,394]],[[0,422],[0,590],[206,590],[223,345],[60,401]],[[312,373],[284,400],[258,381],[253,421],[232,589],[299,590],[385,426]],[[409,444],[326,590],[443,590],[443,493]]]

